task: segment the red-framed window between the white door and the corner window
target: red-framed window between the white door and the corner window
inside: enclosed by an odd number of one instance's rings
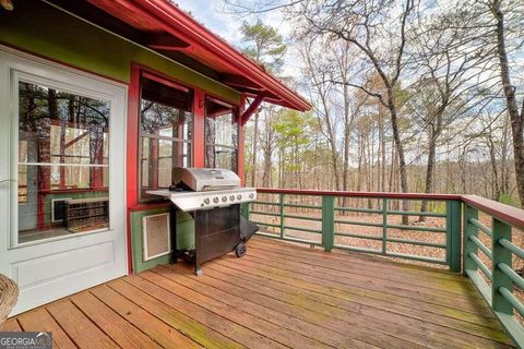
[[[171,184],[174,167],[191,166],[192,105],[189,88],[143,74],[139,144],[142,202],[155,200],[146,191]]]

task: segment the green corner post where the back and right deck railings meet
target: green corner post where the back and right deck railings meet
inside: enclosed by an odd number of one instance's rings
[[[462,203],[460,201],[445,202],[445,212],[446,261],[450,265],[450,270],[461,273]]]

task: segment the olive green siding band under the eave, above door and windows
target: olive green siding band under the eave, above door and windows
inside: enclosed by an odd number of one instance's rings
[[[129,82],[131,62],[136,62],[240,100],[235,89],[40,1],[19,0],[14,11],[0,11],[0,43],[122,82]]]

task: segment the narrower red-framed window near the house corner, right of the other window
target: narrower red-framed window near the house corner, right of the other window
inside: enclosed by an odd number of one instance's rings
[[[236,109],[221,100],[205,104],[205,167],[238,170]]]

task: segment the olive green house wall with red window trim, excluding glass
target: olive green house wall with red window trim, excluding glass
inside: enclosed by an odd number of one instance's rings
[[[20,0],[15,2],[14,11],[0,13],[0,45],[128,84],[128,250],[132,251],[129,269],[140,272],[168,262],[168,256],[142,262],[142,217],[166,212],[168,205],[140,205],[136,200],[139,101],[136,80],[132,75],[136,74],[139,67],[144,67],[194,88],[198,107],[194,110],[194,166],[203,166],[204,163],[204,109],[200,101],[209,93],[240,106],[241,94],[40,1]],[[238,158],[239,161],[243,158],[241,148]],[[193,229],[183,219],[177,228]]]

